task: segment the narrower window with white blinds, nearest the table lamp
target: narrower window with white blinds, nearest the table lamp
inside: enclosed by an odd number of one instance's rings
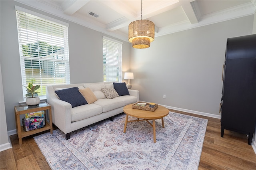
[[[103,37],[103,74],[106,82],[122,82],[122,42]]]

